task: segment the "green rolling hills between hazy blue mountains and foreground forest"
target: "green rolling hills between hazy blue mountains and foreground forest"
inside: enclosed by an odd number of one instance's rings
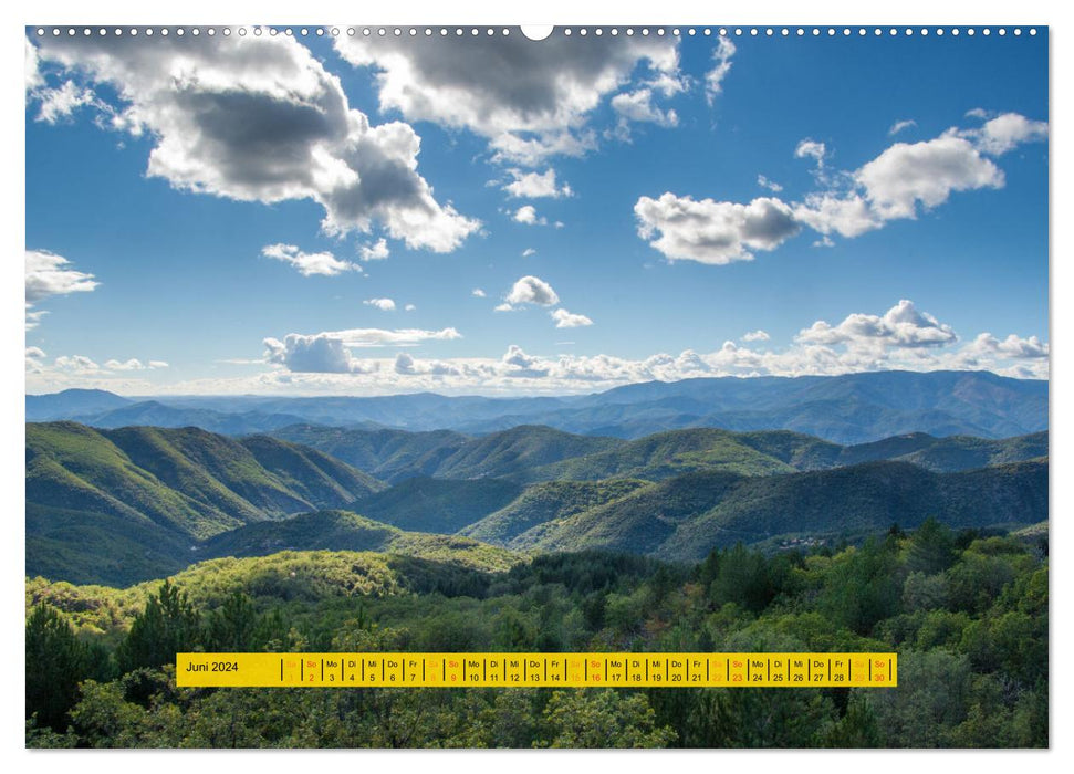
[[[848,447],[710,428],[636,440],[532,426],[478,438],[309,425],[281,432],[305,443],[28,423],[28,574],[131,583],[229,553],[407,546],[428,555],[462,538],[456,547],[471,554],[494,544],[692,559],[739,541],[855,537],[929,515],[952,526],[1047,519],[1046,432],[911,433]]]

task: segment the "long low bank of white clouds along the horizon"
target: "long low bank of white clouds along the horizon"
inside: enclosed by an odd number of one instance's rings
[[[755,333],[755,332],[754,332]],[[350,347],[359,341],[403,346],[418,336],[457,338],[442,332],[342,331],[313,336],[291,334],[285,342],[265,341],[271,370],[230,379],[205,379],[155,386],[157,394],[285,394],[383,395],[430,389],[445,394],[566,394],[592,393],[623,384],[697,376],[802,376],[867,370],[991,370],[1016,378],[1047,378],[1049,345],[1035,336],[1005,338],[982,333],[967,344],[931,314],[909,301],[884,314],[855,313],[837,325],[816,321],[789,346],[764,349],[723,342],[712,351],[685,349],[678,355],[656,353],[640,359],[608,354],[531,354],[511,345],[500,357],[420,358],[409,353],[394,357],[355,358]],[[389,341],[395,339],[395,341]],[[744,337],[743,337],[744,341]],[[44,353],[27,349],[28,389],[49,391],[59,386],[98,386],[115,389],[122,372],[108,372],[84,356],[56,358],[44,365]],[[146,393],[142,384],[140,393]],[[131,387],[129,391],[135,391]]]

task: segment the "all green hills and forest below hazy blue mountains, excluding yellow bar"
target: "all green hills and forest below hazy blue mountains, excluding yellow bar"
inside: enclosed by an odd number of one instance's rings
[[[1046,746],[1047,433],[27,425],[30,746]],[[896,651],[896,689],[178,689],[206,651]]]

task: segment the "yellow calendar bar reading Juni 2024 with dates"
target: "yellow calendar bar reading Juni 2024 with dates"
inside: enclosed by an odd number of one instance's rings
[[[178,653],[180,687],[886,688],[896,653]]]

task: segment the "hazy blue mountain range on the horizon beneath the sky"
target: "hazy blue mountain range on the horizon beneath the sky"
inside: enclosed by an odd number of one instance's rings
[[[1047,428],[1047,381],[989,372],[875,372],[841,376],[722,377],[649,381],[585,396],[373,398],[177,397],[134,401],[100,390],[27,396],[27,419],[102,428],[201,427],[228,435],[295,423],[483,435],[543,425],[572,433],[640,438],[713,427],[793,430],[835,443],[891,436],[1008,438]]]

